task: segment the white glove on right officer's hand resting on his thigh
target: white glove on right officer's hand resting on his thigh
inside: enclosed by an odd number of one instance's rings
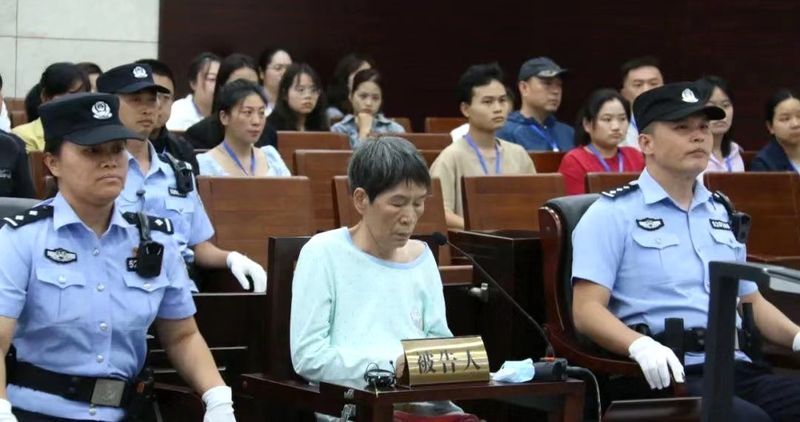
[[[647,383],[652,389],[662,389],[669,386],[669,370],[675,382],[683,382],[683,365],[675,353],[667,346],[650,337],[639,337],[628,346],[631,358],[642,368]]]

